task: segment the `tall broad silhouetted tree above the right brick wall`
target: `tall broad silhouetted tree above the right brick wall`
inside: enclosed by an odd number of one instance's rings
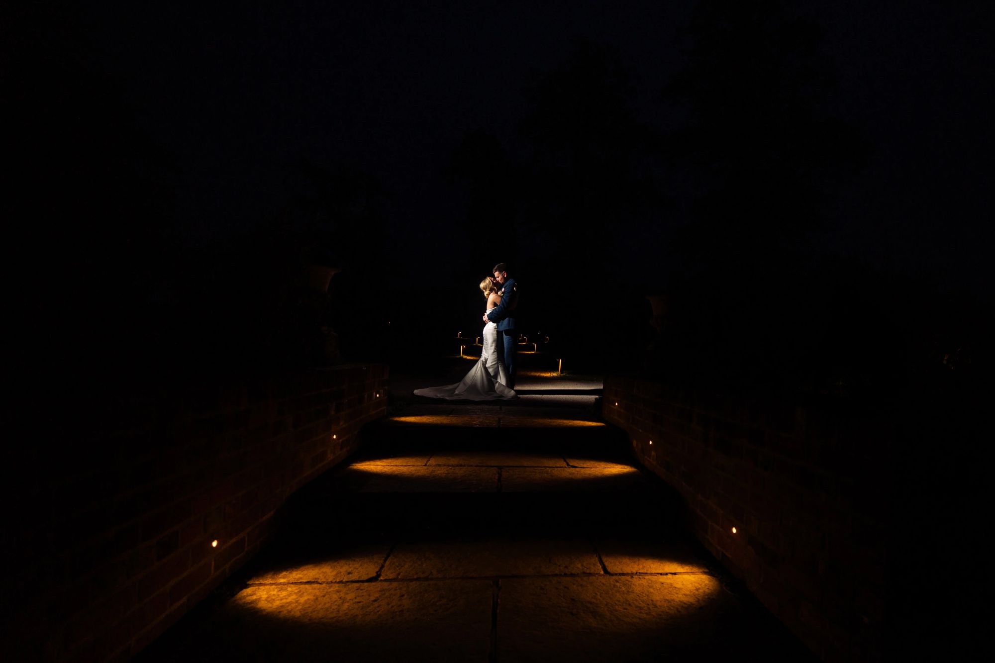
[[[668,368],[783,383],[816,370],[812,357],[848,357],[825,371],[821,379],[832,382],[830,373],[856,365],[857,339],[818,338],[855,318],[833,277],[814,274],[806,240],[863,147],[826,110],[832,77],[819,59],[819,30],[778,0],[702,0],[684,35],[687,65],[665,99],[688,122],[664,144],[691,174],[695,199],[674,247],[686,271],[673,294]]]

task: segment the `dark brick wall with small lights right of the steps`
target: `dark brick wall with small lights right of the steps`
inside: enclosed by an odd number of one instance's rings
[[[603,414],[683,495],[697,539],[816,654],[881,658],[892,424],[620,376]]]

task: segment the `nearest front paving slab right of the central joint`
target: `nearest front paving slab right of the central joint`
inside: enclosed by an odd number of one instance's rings
[[[724,638],[717,617],[736,607],[704,574],[502,579],[497,660],[651,661],[680,652],[697,655],[670,660],[714,660],[709,642]]]

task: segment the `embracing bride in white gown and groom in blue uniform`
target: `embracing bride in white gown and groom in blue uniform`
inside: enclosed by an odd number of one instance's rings
[[[480,284],[487,298],[484,314],[484,349],[481,359],[456,384],[415,389],[416,396],[450,400],[510,400],[514,393],[514,310],[518,306],[518,290],[514,279],[507,275],[507,266],[498,263],[494,276]]]

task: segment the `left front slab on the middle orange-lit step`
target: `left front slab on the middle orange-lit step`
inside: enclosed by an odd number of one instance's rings
[[[350,466],[337,477],[336,492],[482,493],[497,491],[497,468]]]

